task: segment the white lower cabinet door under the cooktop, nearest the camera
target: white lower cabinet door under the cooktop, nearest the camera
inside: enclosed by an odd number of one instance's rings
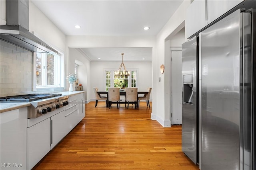
[[[28,127],[28,169],[50,151],[50,117]]]

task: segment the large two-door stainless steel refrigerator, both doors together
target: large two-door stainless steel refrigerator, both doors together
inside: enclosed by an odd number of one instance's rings
[[[255,170],[256,12],[238,9],[196,39],[197,50],[182,46],[182,150],[201,170]],[[195,53],[190,104],[184,66]]]

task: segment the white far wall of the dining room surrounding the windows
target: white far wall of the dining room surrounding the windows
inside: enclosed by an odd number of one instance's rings
[[[117,70],[121,62],[91,62],[91,87],[98,87],[100,91],[105,90],[105,70]],[[151,62],[124,62],[126,69],[138,70],[138,91],[146,91],[148,87],[152,87],[152,65]],[[90,91],[90,99],[95,99],[93,89]]]

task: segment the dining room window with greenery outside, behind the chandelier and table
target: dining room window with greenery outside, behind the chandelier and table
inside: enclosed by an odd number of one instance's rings
[[[137,70],[131,70],[130,76],[115,76],[114,70],[105,70],[106,75],[106,91],[109,87],[138,87]]]

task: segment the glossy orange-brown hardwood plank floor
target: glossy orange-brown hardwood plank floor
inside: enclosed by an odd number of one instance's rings
[[[150,103],[151,104],[151,103]],[[181,125],[162,127],[151,108],[86,104],[86,116],[35,169],[199,170],[181,150]]]

